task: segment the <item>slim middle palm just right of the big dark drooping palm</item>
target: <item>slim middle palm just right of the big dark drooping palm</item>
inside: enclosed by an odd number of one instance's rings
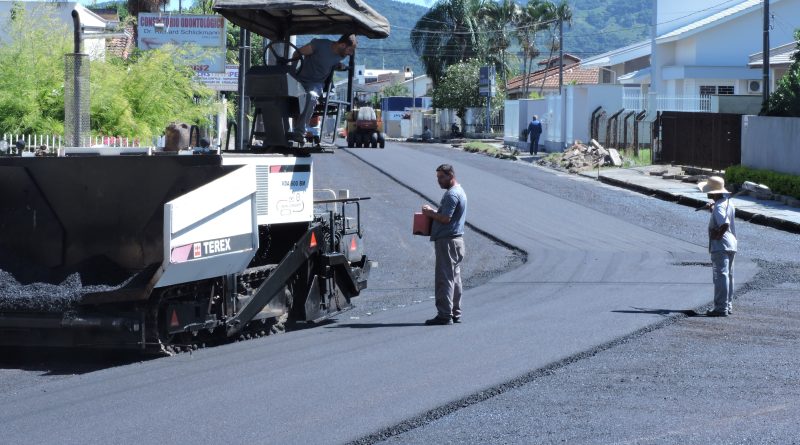
[[[509,27],[516,28],[522,17],[522,8],[514,0],[487,1],[478,11],[478,17],[486,30],[488,53],[486,59],[500,66],[500,75],[506,79],[506,52],[511,46]],[[499,50],[500,57],[497,57]]]

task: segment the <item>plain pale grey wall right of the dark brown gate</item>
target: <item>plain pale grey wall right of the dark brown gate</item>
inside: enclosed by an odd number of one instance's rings
[[[800,118],[742,116],[742,165],[800,175]]]

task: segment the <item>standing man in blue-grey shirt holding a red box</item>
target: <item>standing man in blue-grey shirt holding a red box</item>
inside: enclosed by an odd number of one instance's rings
[[[433,219],[431,241],[436,253],[436,316],[427,325],[461,322],[461,262],[464,260],[464,223],[467,219],[467,195],[456,180],[453,166],[436,168],[436,181],[446,190],[434,210],[425,204],[422,213]]]

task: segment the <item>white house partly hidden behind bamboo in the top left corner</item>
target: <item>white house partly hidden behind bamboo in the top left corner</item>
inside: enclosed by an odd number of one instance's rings
[[[55,21],[58,25],[63,26],[64,32],[69,33],[70,40],[73,32],[72,11],[78,12],[82,26],[92,29],[86,31],[86,34],[100,32],[97,30],[104,30],[109,23],[108,20],[78,2],[0,1],[0,17],[11,17],[12,10],[18,7],[25,8],[25,14],[33,18],[33,23],[49,26],[48,24]],[[0,43],[7,42],[8,38],[10,37],[7,33],[0,33]],[[90,35],[84,37],[83,52],[88,54],[91,59],[104,59],[106,54],[105,37],[92,38]]]

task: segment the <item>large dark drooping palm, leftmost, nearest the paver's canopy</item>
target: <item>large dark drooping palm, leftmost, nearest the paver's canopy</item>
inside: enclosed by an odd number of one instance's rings
[[[485,44],[478,11],[482,0],[439,0],[411,30],[411,46],[434,86],[448,66],[478,57]]]

